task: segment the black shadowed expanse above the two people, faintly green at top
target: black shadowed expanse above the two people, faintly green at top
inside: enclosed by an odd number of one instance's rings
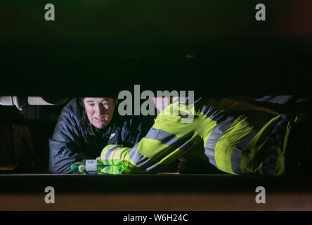
[[[1,1],[1,95],[195,90],[205,96],[308,94],[312,3]]]

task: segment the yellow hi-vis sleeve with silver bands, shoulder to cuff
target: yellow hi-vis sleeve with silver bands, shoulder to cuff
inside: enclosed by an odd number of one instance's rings
[[[101,159],[108,167],[103,169],[103,173],[153,172],[181,158],[201,140],[196,131],[197,120],[181,121],[193,113],[193,108],[188,108],[186,104],[171,104],[158,115],[148,134],[133,148],[106,146]],[[115,167],[119,169],[113,169]]]

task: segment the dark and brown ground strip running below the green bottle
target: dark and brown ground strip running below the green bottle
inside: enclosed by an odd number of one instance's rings
[[[0,210],[312,210],[307,176],[2,174],[0,183]]]

